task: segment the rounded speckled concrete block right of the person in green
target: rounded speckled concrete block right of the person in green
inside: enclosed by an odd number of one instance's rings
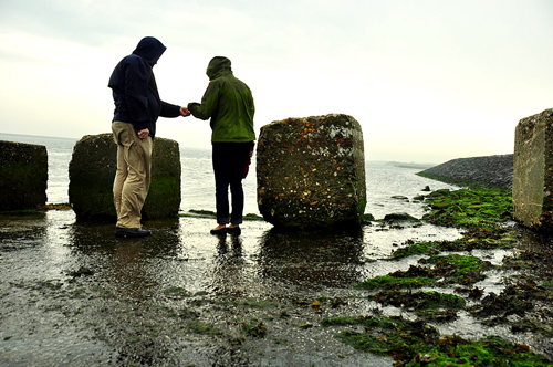
[[[259,210],[275,227],[358,227],[366,206],[359,123],[325,115],[262,126],[257,177]]]

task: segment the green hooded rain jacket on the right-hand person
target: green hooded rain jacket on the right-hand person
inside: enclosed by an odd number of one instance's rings
[[[232,74],[230,60],[222,56],[211,59],[206,73],[209,85],[201,104],[190,103],[188,109],[196,118],[211,118],[211,141],[255,140],[253,96],[248,85]]]

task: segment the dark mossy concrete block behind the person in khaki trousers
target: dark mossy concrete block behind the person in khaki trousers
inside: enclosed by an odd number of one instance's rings
[[[113,180],[117,145],[113,134],[86,135],[75,144],[70,162],[70,203],[79,219],[114,220]],[[144,219],[176,216],[180,206],[178,143],[156,137],[152,154],[152,184]]]

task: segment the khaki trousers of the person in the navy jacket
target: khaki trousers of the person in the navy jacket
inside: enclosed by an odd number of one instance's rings
[[[116,226],[140,228],[140,211],[152,177],[152,137],[142,141],[133,124],[122,122],[113,122],[112,132],[117,144],[117,171],[113,182]]]

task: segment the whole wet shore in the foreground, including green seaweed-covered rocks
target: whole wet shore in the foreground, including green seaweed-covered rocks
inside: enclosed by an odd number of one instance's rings
[[[333,234],[252,220],[217,238],[180,217],[117,240],[71,210],[0,216],[0,364],[441,366],[470,345],[547,365],[549,239],[510,228],[508,196],[459,191],[418,198],[426,220]]]

